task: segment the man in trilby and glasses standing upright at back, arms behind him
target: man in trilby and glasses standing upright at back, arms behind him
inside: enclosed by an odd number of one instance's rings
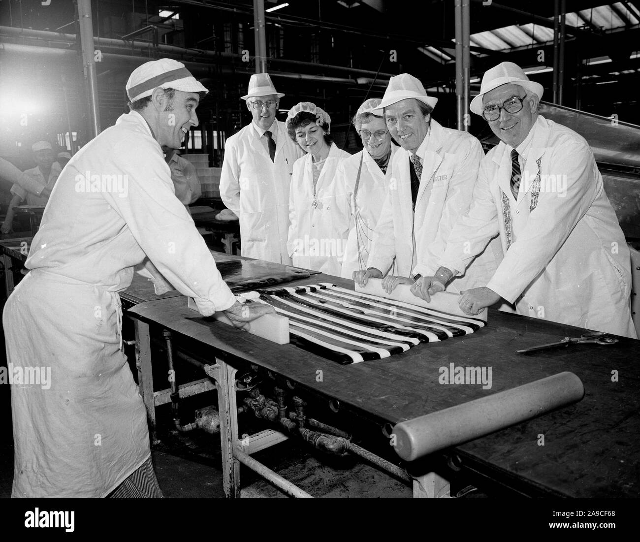
[[[291,264],[287,253],[289,186],[293,163],[304,155],[276,120],[284,94],[269,74],[253,74],[241,99],[253,121],[225,143],[220,197],[240,219],[243,256]]]

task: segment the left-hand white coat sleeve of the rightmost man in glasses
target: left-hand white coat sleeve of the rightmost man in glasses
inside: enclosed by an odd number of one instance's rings
[[[436,271],[442,266],[461,275],[499,232],[498,211],[489,184],[493,170],[487,164],[492,164],[490,156],[481,161],[472,203],[452,228],[444,254],[435,262]]]

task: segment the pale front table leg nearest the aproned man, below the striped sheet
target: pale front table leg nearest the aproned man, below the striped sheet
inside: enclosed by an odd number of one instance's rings
[[[238,411],[234,388],[236,369],[216,358],[218,372],[218,413],[222,452],[222,487],[227,498],[240,498],[240,462],[234,456],[238,442]]]

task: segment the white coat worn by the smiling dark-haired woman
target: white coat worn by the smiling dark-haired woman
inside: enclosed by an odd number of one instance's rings
[[[307,154],[293,165],[289,193],[289,241],[294,266],[340,276],[349,233],[349,200],[346,186],[335,176],[340,161],[351,156],[331,144],[316,184],[320,205],[314,200],[313,157]]]

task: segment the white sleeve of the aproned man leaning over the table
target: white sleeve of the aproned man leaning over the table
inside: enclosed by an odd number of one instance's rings
[[[126,193],[105,193],[152,264],[206,316],[236,298],[193,219],[173,193],[170,169],[155,142],[125,138],[113,148],[113,169],[127,175]],[[122,196],[122,197],[121,197]]]

